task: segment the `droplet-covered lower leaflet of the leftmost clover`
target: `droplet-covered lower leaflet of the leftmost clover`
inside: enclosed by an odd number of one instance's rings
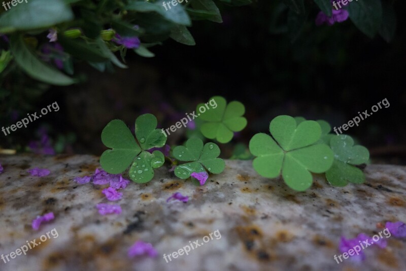
[[[159,150],[154,150],[152,154],[141,152],[131,164],[128,174],[138,184],[148,183],[154,177],[153,169],[161,167],[164,161],[165,158]]]

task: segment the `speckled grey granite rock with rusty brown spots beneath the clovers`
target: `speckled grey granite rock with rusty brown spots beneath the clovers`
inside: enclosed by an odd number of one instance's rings
[[[280,179],[259,177],[250,161],[226,161],[222,174],[195,187],[160,168],[148,184],[131,183],[118,201],[121,215],[101,216],[95,205],[107,202],[106,186],[73,182],[98,167],[93,156],[0,156],[0,254],[9,254],[55,228],[41,245],[0,270],[406,270],[406,239],[388,238],[388,247],[368,247],[357,265],[333,256],[341,235],[353,238],[382,230],[377,223],[406,221],[406,168],[370,165],[366,183],[328,186],[321,175],[307,192],[297,193]],[[48,168],[46,177],[26,170]],[[188,203],[166,203],[174,192]],[[47,212],[55,220],[31,229]],[[166,263],[162,255],[219,230],[189,255]],[[137,240],[152,243],[158,257],[129,259]]]

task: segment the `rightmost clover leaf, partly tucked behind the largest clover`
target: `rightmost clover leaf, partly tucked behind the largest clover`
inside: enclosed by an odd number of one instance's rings
[[[338,135],[330,139],[334,152],[334,162],[326,171],[326,178],[333,186],[344,187],[348,182],[362,184],[365,175],[354,165],[366,163],[369,159],[368,149],[361,145],[354,146],[354,140],[348,135]]]

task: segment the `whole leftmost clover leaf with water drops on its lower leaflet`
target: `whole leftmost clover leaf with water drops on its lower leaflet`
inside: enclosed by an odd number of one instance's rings
[[[166,142],[165,135],[156,126],[157,120],[152,114],[143,114],[136,119],[135,134],[140,147],[123,121],[111,121],[101,132],[101,141],[111,148],[101,155],[101,167],[108,173],[118,174],[132,163],[130,178],[136,183],[149,182],[154,176],[153,169],[164,163],[159,150],[152,154],[146,152],[153,147],[162,147]]]

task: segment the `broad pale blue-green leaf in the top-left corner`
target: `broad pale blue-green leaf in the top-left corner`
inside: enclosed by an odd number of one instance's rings
[[[61,0],[29,0],[0,16],[0,33],[50,27],[73,18],[71,8]]]

